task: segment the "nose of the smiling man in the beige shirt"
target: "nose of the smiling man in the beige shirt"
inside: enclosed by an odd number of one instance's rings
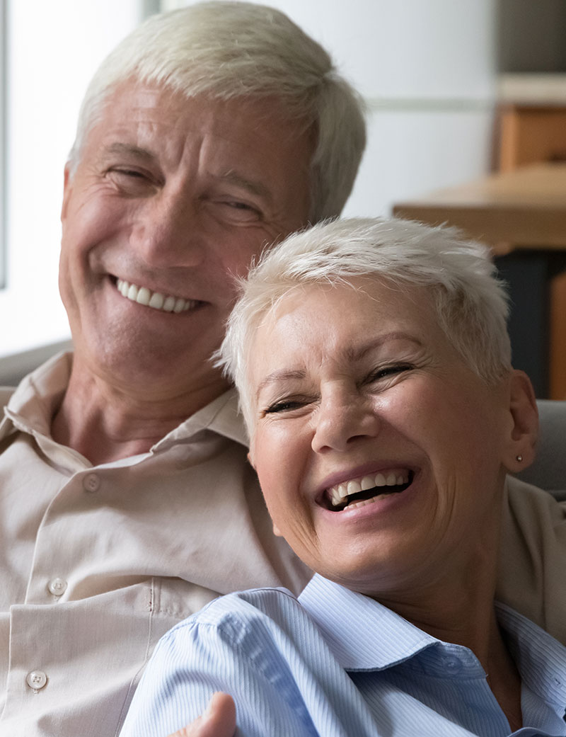
[[[203,213],[181,193],[161,192],[137,214],[131,241],[136,254],[153,267],[196,266],[206,251]]]

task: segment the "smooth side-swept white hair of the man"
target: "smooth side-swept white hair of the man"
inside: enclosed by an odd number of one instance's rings
[[[366,145],[363,102],[320,44],[287,15],[247,2],[211,1],[152,15],[102,62],[85,94],[69,155],[71,175],[108,95],[133,78],[186,97],[270,97],[315,130],[311,221],[340,214]]]

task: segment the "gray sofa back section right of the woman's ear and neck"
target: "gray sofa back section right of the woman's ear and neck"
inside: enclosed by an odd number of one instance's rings
[[[539,399],[540,436],[534,464],[517,478],[566,500],[566,402]]]

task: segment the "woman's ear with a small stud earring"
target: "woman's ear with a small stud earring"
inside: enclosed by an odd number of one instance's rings
[[[509,380],[511,433],[503,462],[511,473],[523,471],[534,461],[539,435],[539,411],[533,385],[524,371],[514,370]]]

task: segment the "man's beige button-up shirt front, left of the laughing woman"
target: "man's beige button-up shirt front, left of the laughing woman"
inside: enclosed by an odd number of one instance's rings
[[[271,532],[234,392],[93,467],[50,436],[70,368],[27,377],[0,422],[1,737],[116,736],[167,629],[217,593],[308,578]]]

